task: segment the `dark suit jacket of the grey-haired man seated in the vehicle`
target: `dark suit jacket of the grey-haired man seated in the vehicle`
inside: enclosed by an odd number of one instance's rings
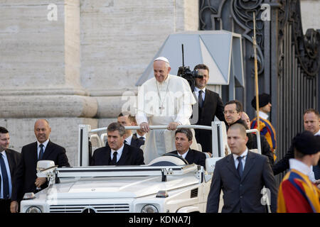
[[[111,148],[109,146],[98,148],[92,155],[90,165],[109,165],[110,154]],[[140,148],[124,144],[122,155],[117,165],[144,165],[144,153]]]

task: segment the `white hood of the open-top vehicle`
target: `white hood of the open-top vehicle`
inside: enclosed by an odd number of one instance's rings
[[[53,184],[39,193],[47,199],[137,198],[199,184],[194,175],[161,177],[100,177]]]

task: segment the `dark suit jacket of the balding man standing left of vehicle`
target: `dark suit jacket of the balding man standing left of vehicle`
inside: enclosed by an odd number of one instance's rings
[[[70,167],[68,162],[68,157],[65,154],[65,148],[58,144],[49,143],[43,153],[42,160],[52,160],[58,167]],[[15,186],[12,189],[11,199],[14,201],[21,200],[23,194],[26,192],[36,192],[36,178],[37,178],[37,162],[38,162],[38,148],[37,142],[30,143],[23,146],[21,150],[21,160],[18,165],[18,170],[16,172]],[[45,184],[41,189],[47,187]]]

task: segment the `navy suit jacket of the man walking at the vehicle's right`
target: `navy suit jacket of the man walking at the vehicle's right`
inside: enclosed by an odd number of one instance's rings
[[[248,152],[240,179],[235,169],[233,155],[228,155],[215,164],[213,179],[208,195],[207,212],[218,212],[220,190],[223,190],[223,213],[266,212],[261,204],[261,189],[270,189],[271,211],[277,211],[277,187],[269,164],[264,155]]]

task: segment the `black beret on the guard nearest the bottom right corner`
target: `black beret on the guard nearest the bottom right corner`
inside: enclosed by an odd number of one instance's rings
[[[300,153],[312,155],[320,151],[320,136],[314,136],[310,131],[298,133],[293,139],[293,146]]]

